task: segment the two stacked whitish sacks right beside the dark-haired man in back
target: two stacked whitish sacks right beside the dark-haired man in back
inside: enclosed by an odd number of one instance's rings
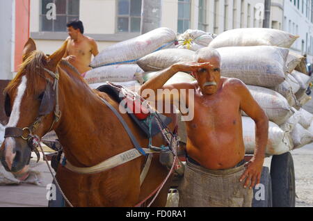
[[[91,88],[97,88],[106,81],[111,81],[127,88],[140,85],[136,76],[143,69],[136,61],[147,54],[162,49],[175,47],[176,33],[170,28],[157,28],[153,31],[131,38],[101,51],[90,63],[90,71],[84,79]]]

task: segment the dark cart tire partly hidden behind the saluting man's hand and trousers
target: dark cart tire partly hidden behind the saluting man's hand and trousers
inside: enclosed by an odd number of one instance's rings
[[[260,183],[263,186],[253,188],[252,207],[271,207],[272,206],[272,184],[271,174],[268,167],[263,167]],[[260,192],[261,191],[261,192]],[[264,197],[261,197],[264,194]],[[260,198],[261,197],[261,198]]]

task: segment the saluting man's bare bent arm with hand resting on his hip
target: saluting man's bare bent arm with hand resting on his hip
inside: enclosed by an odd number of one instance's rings
[[[236,81],[239,94],[241,95],[240,108],[255,121],[255,153],[251,161],[247,164],[246,171],[240,178],[240,181],[246,179],[244,183],[245,188],[249,187],[249,183],[250,188],[252,188],[255,184],[259,183],[261,179],[268,140],[268,117],[259,104],[257,104],[257,101],[252,97],[246,85],[239,80]]]

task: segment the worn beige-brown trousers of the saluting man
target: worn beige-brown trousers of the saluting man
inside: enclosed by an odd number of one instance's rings
[[[208,170],[188,161],[179,185],[179,207],[251,207],[253,190],[239,179],[244,165],[227,170]]]

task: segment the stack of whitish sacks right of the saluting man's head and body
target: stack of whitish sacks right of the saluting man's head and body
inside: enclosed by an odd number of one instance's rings
[[[225,31],[211,41],[222,58],[222,76],[241,79],[268,116],[266,154],[278,155],[313,141],[313,115],[301,106],[312,81],[303,56],[289,51],[298,36],[270,28]],[[242,113],[246,153],[255,149],[255,122]],[[311,125],[312,124],[312,125]]]

